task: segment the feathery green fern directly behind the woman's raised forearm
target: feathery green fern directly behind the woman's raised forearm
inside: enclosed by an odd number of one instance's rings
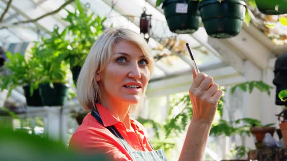
[[[222,116],[224,98],[221,97],[218,102],[216,113]],[[180,112],[174,115],[175,108],[179,108]],[[166,120],[158,123],[152,119],[137,118],[143,126],[152,128],[155,132],[151,143],[155,149],[163,148],[167,156],[172,156],[171,152],[177,147],[177,138],[182,134],[191,121],[193,115],[192,103],[189,94],[180,98],[174,98],[171,101],[170,110]]]

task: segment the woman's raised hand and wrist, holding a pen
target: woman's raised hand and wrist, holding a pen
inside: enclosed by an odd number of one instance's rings
[[[193,105],[192,120],[211,124],[215,116],[217,103],[222,95],[213,78],[204,74],[196,74],[193,70],[193,83],[189,89],[189,97]]]

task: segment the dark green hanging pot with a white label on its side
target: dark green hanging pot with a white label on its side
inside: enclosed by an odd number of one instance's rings
[[[192,33],[199,28],[198,1],[165,0],[162,8],[171,32]]]

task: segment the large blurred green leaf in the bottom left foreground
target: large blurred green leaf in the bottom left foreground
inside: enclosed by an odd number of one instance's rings
[[[48,138],[0,127],[1,161],[108,161],[106,157],[83,156]]]

